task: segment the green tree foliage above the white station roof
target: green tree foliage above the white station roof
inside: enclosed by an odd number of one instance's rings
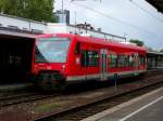
[[[53,22],[53,0],[1,0],[0,12],[34,21]]]

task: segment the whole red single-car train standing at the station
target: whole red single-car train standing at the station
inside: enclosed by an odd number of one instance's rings
[[[43,90],[147,71],[146,49],[78,35],[38,36],[34,55],[33,73]]]

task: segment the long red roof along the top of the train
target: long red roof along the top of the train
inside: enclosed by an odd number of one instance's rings
[[[71,35],[71,33],[48,33],[48,35],[39,35],[37,38],[46,38],[46,37],[68,37],[68,38],[74,38],[78,37],[80,38],[79,41],[82,42],[88,42],[88,43],[95,43],[95,44],[102,44],[102,45],[110,45],[110,46],[116,46],[116,48],[126,48],[130,50],[138,50],[138,51],[145,51],[147,52],[147,49],[143,46],[137,46],[133,44],[125,44],[125,43],[118,43],[115,42],[111,39],[100,39],[100,38],[95,38],[95,37],[84,37],[80,35]]]

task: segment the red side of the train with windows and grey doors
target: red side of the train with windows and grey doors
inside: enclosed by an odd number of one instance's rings
[[[118,75],[118,77],[126,76],[137,76],[141,72],[146,72],[146,51],[117,48],[111,45],[102,45],[92,43],[88,38],[88,42],[83,41],[86,38],[76,37],[74,43],[72,44],[72,50],[70,51],[68,66],[66,69],[66,80],[67,81],[78,81],[78,80],[102,80],[102,54],[101,50],[106,51],[106,79]],[[90,42],[89,42],[90,41]],[[76,53],[76,46],[79,44],[78,53]],[[90,54],[90,55],[87,55]],[[112,56],[122,56],[122,63],[113,65],[111,60]],[[87,56],[86,58],[84,56]],[[96,57],[92,57],[96,56]],[[140,64],[141,56],[141,64]],[[123,58],[124,57],[124,58]],[[128,57],[128,58],[127,58]],[[130,59],[131,64],[123,64],[126,59]],[[91,60],[92,59],[92,60]],[[117,59],[117,58],[116,58]],[[125,60],[123,60],[125,59]],[[90,63],[90,64],[89,64]],[[115,60],[114,63],[117,63]],[[126,63],[126,62],[125,62]],[[104,79],[104,78],[103,78]]]

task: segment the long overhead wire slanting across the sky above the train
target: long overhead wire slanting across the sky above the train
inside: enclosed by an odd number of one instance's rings
[[[124,21],[121,21],[121,19],[118,19],[118,18],[115,18],[115,17],[113,17],[113,16],[106,14],[106,13],[97,11],[97,10],[91,9],[91,8],[89,8],[89,6],[87,6],[87,5],[84,5],[84,4],[77,4],[77,3],[74,3],[74,2],[71,2],[71,3],[74,4],[74,5],[77,5],[77,6],[87,9],[87,10],[93,12],[93,13],[97,13],[97,14],[100,14],[100,15],[102,15],[102,16],[105,16],[105,17],[108,17],[108,18],[110,18],[110,19],[112,19],[112,21],[115,21],[116,23],[120,23],[120,24],[122,24],[122,25],[128,26],[128,27],[130,27],[130,28],[140,30],[140,31],[143,31],[143,32],[146,32],[146,33],[150,33],[150,35],[153,35],[153,36],[156,37],[155,33],[153,33],[153,32],[151,32],[151,31],[149,31],[149,30],[147,30],[147,29],[145,29],[145,28],[140,28],[140,27],[135,26],[135,25],[133,25],[133,24],[129,24],[129,23],[126,23],[126,22],[124,22]]]

